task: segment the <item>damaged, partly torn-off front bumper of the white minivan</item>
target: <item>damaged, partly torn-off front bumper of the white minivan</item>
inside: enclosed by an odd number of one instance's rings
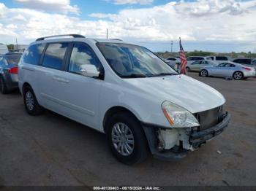
[[[178,160],[186,157],[188,152],[199,148],[202,144],[206,144],[206,141],[222,133],[222,131],[227,128],[229,122],[230,114],[226,113],[223,114],[221,122],[205,130],[194,131],[191,128],[191,131],[188,131],[184,128],[178,128],[178,135],[182,136],[182,139],[178,139],[175,147],[171,149],[159,147],[158,132],[159,130],[168,130],[167,128],[146,123],[142,123],[142,126],[148,140],[148,146],[154,157],[162,160]]]

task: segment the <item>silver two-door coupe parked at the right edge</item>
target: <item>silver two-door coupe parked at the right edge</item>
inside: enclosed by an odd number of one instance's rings
[[[254,77],[255,69],[240,63],[225,62],[218,66],[206,66],[200,70],[199,75],[201,77],[233,77],[233,79],[240,80]]]

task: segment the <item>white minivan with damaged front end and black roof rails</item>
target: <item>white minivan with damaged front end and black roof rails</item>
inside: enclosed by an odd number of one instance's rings
[[[145,47],[78,34],[29,45],[18,64],[26,111],[42,109],[105,133],[125,164],[180,159],[227,127],[225,98]]]

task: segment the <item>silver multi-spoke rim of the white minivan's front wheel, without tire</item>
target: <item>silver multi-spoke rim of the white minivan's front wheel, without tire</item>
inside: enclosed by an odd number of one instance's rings
[[[132,130],[127,125],[123,122],[113,125],[111,138],[113,146],[119,154],[123,156],[132,154],[135,147],[135,139]]]

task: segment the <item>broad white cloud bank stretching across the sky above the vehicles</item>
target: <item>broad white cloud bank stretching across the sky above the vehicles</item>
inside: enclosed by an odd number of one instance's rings
[[[172,1],[143,9],[122,9],[117,14],[93,13],[89,16],[97,20],[85,20],[63,12],[8,8],[0,3],[0,34],[4,42],[17,36],[20,43],[29,43],[56,34],[105,38],[108,28],[110,38],[130,42],[167,44],[181,36],[184,42],[252,44],[256,42],[255,7],[256,0]]]

